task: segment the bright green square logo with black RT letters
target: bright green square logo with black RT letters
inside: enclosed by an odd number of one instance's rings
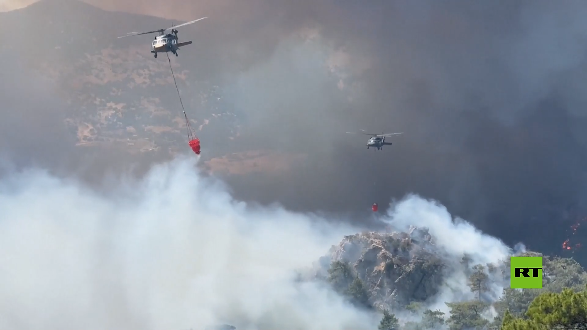
[[[512,289],[542,288],[542,257],[510,257]]]

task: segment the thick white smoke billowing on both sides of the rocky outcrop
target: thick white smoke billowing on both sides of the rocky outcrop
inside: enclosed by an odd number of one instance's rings
[[[0,328],[376,328],[376,315],[295,276],[359,228],[235,201],[193,157],[116,191],[103,196],[44,171],[0,183]],[[392,217],[428,225],[455,255],[507,255],[418,197]]]

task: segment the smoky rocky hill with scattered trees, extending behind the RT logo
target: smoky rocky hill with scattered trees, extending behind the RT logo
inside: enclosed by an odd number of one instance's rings
[[[467,255],[450,257],[434,241],[427,228],[416,227],[409,233],[346,236],[318,262],[316,277],[328,281],[354,304],[393,311],[405,330],[431,329],[426,326],[498,329],[505,311],[523,316],[542,292],[581,291],[587,284],[587,272],[572,258],[544,256],[543,289],[510,289],[507,260],[475,265]],[[479,274],[485,274],[481,276],[484,280],[475,287],[471,283]],[[443,301],[443,297],[452,299]],[[480,308],[477,316],[456,319],[470,308]],[[444,319],[439,321],[439,317]],[[430,325],[435,318],[440,323]]]

